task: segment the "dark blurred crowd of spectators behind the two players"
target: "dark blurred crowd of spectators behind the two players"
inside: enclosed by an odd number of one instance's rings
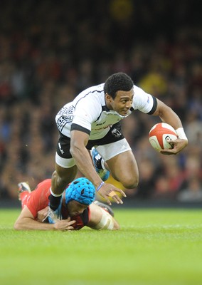
[[[194,1],[1,1],[0,199],[51,176],[55,114],[81,90],[126,72],[179,115],[188,147],[149,145],[159,118],[122,121],[139,165],[128,199],[202,202],[202,25]]]

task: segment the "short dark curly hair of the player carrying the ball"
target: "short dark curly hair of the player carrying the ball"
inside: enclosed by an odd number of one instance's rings
[[[114,73],[105,81],[104,92],[115,99],[117,91],[129,91],[133,86],[132,79],[126,73]]]

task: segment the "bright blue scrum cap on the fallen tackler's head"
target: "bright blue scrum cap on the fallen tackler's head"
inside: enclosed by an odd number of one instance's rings
[[[95,200],[95,187],[92,182],[85,177],[71,182],[65,189],[65,204],[68,204],[70,200],[90,205]]]

